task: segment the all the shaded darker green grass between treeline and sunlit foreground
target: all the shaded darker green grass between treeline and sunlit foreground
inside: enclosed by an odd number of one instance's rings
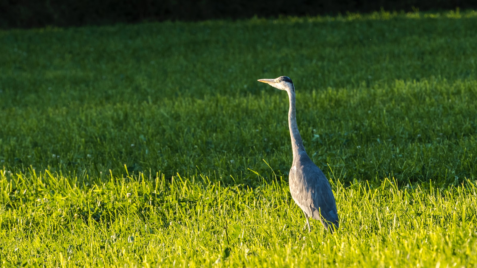
[[[2,31],[0,161],[249,180],[266,159],[286,175],[287,97],[256,79],[288,75],[307,151],[345,181],[472,179],[475,21],[381,12]]]

